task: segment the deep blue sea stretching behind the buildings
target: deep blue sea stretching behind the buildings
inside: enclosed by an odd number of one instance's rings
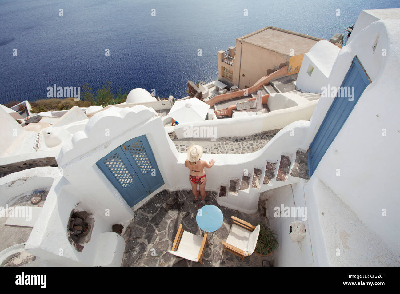
[[[46,98],[53,84],[89,83],[95,92],[106,80],[122,92],[154,88],[160,98],[182,98],[188,80],[218,78],[217,52],[240,36],[276,26],[329,40],[346,34],[362,9],[396,7],[400,1],[0,1],[0,103]]]

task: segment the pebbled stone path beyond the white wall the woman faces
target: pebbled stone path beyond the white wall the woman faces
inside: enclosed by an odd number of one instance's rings
[[[180,153],[186,153],[186,150],[188,150],[192,144],[198,144],[204,148],[203,153],[245,154],[260,150],[279,131],[280,129],[245,137],[217,138],[215,141],[210,141],[210,138],[190,138],[190,141],[188,141],[188,139],[173,139],[173,141],[176,146],[176,150],[178,150]]]

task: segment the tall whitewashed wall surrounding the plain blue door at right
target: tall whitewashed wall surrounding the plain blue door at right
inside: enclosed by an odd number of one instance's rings
[[[385,20],[359,32],[340,50],[327,81],[326,86],[340,86],[357,55],[372,83],[304,186],[304,192],[295,188],[300,183],[292,185],[295,199],[304,193],[308,206],[306,230],[311,238],[314,265],[400,264],[396,245],[400,236],[394,233],[400,220],[397,213],[400,160],[396,156],[400,143],[400,102],[396,94],[396,81],[400,77],[399,28],[399,20]],[[377,34],[379,40],[374,54],[372,46]],[[386,49],[387,56],[382,56],[382,49]],[[333,98],[320,98],[300,148],[308,148],[332,101]],[[382,136],[383,129],[386,136]],[[340,176],[336,176],[337,169]],[[268,191],[272,193],[272,203],[289,205],[292,202],[288,191],[283,189],[286,188],[277,189],[275,196],[274,190]],[[386,216],[382,216],[382,209],[387,210]],[[288,223],[283,225],[284,222],[289,221],[270,220],[271,228],[283,234],[281,240],[287,239]],[[292,265],[292,259],[294,264],[308,265],[309,256],[305,252],[293,256],[288,242],[291,241],[287,240],[277,251],[276,264]]]

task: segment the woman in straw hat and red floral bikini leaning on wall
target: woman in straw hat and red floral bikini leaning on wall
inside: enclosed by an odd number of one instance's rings
[[[204,160],[200,160],[200,157],[203,154],[203,147],[198,146],[196,144],[190,146],[188,148],[188,159],[185,160],[185,166],[190,169],[189,172],[189,180],[190,184],[192,184],[192,191],[196,200],[199,198],[199,194],[197,192],[197,185],[200,188],[201,201],[203,204],[206,204],[204,200],[206,198],[206,172],[204,172],[204,168],[211,168],[215,160],[211,159],[210,163],[205,162]]]

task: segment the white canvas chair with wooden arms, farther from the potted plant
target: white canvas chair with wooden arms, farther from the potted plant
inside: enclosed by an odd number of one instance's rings
[[[181,224],[176,233],[172,250],[168,250],[168,252],[203,264],[204,249],[208,244],[207,234],[208,233],[205,233],[204,237],[196,236],[190,232],[184,231]]]

